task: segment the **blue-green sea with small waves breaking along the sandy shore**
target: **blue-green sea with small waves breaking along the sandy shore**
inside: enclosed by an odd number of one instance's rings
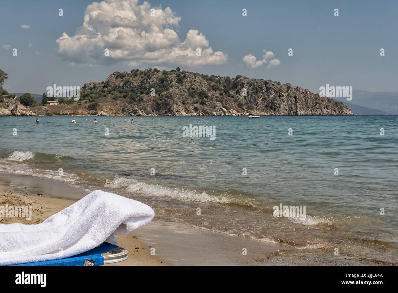
[[[396,262],[397,116],[95,118],[0,117],[0,171],[119,193],[203,229]],[[189,124],[215,127],[215,140],[183,137]],[[274,217],[280,204],[306,216]]]

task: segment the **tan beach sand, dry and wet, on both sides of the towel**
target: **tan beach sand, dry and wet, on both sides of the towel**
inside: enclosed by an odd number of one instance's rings
[[[37,224],[88,193],[53,179],[0,173],[0,203],[32,205],[30,221],[14,217],[0,218],[0,223]],[[394,265],[325,256],[316,250],[298,251],[281,243],[193,228],[178,221],[158,220],[156,211],[152,222],[117,237],[119,245],[129,251],[129,259],[115,265]],[[152,247],[155,256],[149,253]],[[246,255],[242,254],[244,248]]]

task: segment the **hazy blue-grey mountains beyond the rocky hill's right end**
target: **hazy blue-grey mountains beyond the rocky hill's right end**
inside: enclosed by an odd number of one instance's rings
[[[366,90],[354,90],[351,101],[338,101],[351,108],[355,115],[398,115],[398,91],[367,92]]]

